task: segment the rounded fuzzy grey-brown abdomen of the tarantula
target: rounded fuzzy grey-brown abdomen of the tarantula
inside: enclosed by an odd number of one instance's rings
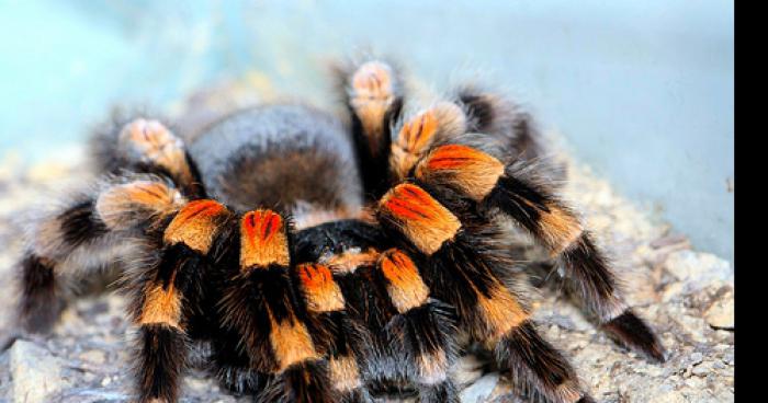
[[[341,123],[302,105],[231,114],[189,147],[211,197],[255,206],[355,210],[362,204],[354,152]]]

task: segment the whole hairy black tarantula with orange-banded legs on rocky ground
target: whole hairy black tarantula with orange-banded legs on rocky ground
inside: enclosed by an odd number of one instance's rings
[[[104,175],[30,226],[20,324],[45,332],[67,283],[121,274],[140,402],[176,402],[194,344],[259,402],[369,402],[374,384],[459,402],[473,344],[521,391],[591,402],[537,332],[510,222],[587,310],[663,361],[594,235],[539,171],[528,114],[475,87],[417,111],[392,64],[338,70],[349,127],[309,106],[230,114],[182,140],[131,118],[92,141]]]

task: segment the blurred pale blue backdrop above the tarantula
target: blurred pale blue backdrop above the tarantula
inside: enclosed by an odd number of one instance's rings
[[[733,13],[716,0],[0,0],[0,158],[47,158],[114,104],[168,110],[252,71],[327,101],[323,62],[370,47],[437,89],[482,72],[619,191],[733,260]]]

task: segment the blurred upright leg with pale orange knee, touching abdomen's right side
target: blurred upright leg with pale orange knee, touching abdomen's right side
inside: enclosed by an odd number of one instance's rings
[[[403,107],[403,84],[389,65],[374,60],[358,66],[346,85],[358,168],[365,193],[377,197],[386,188],[389,127]]]

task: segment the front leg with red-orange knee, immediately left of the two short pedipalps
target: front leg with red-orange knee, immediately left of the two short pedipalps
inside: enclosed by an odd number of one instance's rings
[[[327,362],[290,279],[286,222],[271,210],[249,211],[235,234],[239,267],[219,312],[241,337],[251,368],[271,375],[257,401],[332,402]]]

